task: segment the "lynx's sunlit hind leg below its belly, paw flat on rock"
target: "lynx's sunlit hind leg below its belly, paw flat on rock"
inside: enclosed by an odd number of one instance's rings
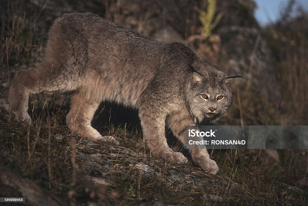
[[[89,140],[103,140],[119,144],[114,137],[102,136],[91,126],[91,120],[99,106],[99,101],[87,100],[86,95],[78,92],[71,96],[71,110],[67,114],[66,123],[71,131],[87,137]]]

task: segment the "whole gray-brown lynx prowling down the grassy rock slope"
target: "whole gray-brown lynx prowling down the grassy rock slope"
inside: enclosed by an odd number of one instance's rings
[[[11,108],[22,123],[31,123],[30,94],[75,91],[66,119],[73,132],[91,140],[115,141],[102,137],[91,120],[102,101],[117,102],[139,110],[152,153],[187,164],[182,153],[167,145],[165,124],[184,142],[185,125],[195,125],[205,116],[214,120],[232,104],[229,82],[234,77],[183,43],[158,42],[91,13],[64,14],[48,36],[42,63],[18,71],[11,86]],[[190,153],[206,172],[218,172],[206,149]]]

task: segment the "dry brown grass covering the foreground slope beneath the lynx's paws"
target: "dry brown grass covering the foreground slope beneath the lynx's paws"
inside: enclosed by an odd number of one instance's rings
[[[11,122],[9,126],[7,114],[3,110],[0,113],[1,164],[33,180],[71,205],[85,202],[145,205],[158,200],[174,205],[187,202],[189,205],[215,205],[220,201],[219,198],[224,201],[219,204],[223,205],[308,203],[308,194],[305,192],[308,186],[305,183],[308,167],[306,150],[280,151],[283,157],[281,164],[270,159],[262,150],[215,150],[212,158],[221,170],[215,176],[206,175],[201,168],[191,164],[174,170],[174,166],[152,156],[143,160],[153,171],[147,174],[127,162],[129,155],[125,160],[123,155],[121,158],[112,155],[118,153],[112,151],[112,146],[95,143],[93,148],[101,148],[103,153],[103,159],[97,161],[104,165],[110,159],[111,167],[109,172],[104,173],[92,163],[91,170],[83,173],[79,167],[85,166],[80,156],[76,158],[75,150],[84,142],[62,125],[49,123],[59,120],[34,121],[30,127]],[[150,154],[147,149],[144,150],[141,139],[133,135],[122,137],[124,127],[120,127],[118,132],[117,140],[121,146],[131,148],[136,153]],[[89,147],[85,149],[89,156],[95,153]],[[103,177],[112,184],[91,186],[85,175]],[[193,181],[181,182],[187,175],[193,176]],[[203,178],[206,178],[206,183]]]

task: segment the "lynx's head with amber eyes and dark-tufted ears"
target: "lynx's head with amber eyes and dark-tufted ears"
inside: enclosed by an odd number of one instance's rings
[[[229,77],[216,68],[210,68],[203,73],[193,71],[187,101],[195,121],[209,117],[213,122],[229,110],[232,105],[229,83],[241,76]]]

